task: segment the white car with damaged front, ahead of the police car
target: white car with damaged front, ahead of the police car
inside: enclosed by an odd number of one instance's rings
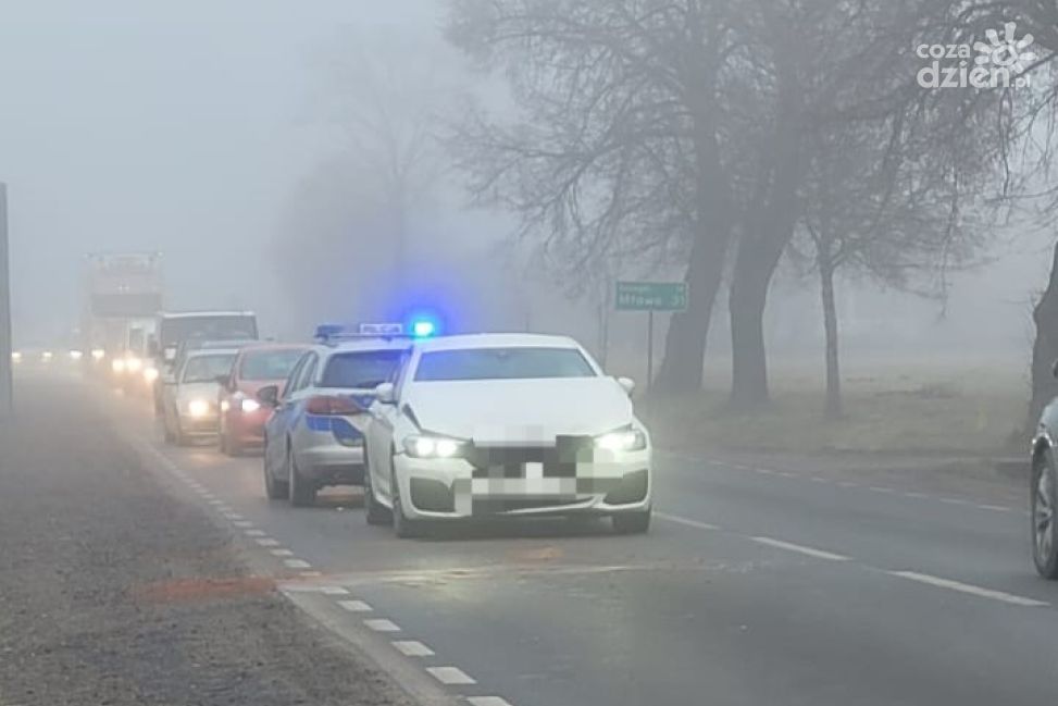
[[[564,336],[416,342],[370,408],[368,522],[403,537],[472,517],[598,515],[646,532],[650,435],[632,388]]]

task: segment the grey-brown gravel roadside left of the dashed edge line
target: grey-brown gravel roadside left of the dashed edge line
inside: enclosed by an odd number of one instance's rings
[[[0,424],[0,704],[408,704],[231,535],[165,493],[69,383]]]

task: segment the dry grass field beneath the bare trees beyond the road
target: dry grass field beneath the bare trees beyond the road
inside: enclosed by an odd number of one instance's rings
[[[819,375],[796,367],[773,371],[772,402],[754,413],[732,411],[719,385],[637,407],[656,443],[726,450],[997,455],[1024,424],[1028,384],[1011,361],[860,364],[843,384],[834,421]]]

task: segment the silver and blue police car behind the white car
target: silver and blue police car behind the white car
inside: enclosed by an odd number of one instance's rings
[[[410,346],[407,338],[374,336],[316,345],[285,385],[258,392],[273,408],[264,431],[270,498],[307,506],[324,486],[363,483],[365,408]]]

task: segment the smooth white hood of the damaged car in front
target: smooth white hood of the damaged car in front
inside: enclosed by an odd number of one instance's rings
[[[553,443],[633,420],[632,400],[612,377],[416,383],[402,404],[423,431],[476,443]]]

